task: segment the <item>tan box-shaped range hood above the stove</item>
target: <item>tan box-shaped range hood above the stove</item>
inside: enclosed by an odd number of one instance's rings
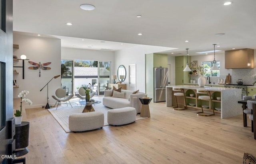
[[[225,51],[225,68],[254,68],[254,50],[244,48]]]

